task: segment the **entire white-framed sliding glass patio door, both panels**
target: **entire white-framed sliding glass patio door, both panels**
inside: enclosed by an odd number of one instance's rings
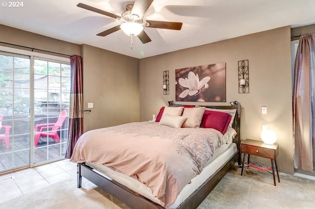
[[[64,156],[69,92],[69,63],[0,52],[0,173]]]

